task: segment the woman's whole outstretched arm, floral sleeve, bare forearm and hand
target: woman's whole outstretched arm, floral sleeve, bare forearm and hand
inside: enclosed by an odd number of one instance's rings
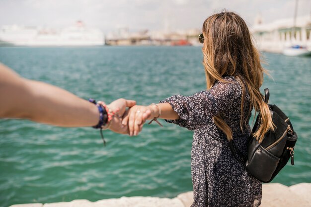
[[[235,92],[240,88],[234,77],[224,79],[211,89],[192,96],[174,95],[157,105],[136,106],[129,111],[129,117],[123,120],[123,124],[128,120],[130,135],[137,135],[146,119],[158,118],[159,114],[159,118],[189,130],[211,123],[214,116],[230,110],[233,99],[237,97]]]

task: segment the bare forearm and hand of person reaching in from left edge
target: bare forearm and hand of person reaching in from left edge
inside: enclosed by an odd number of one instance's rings
[[[20,77],[0,64],[0,118],[30,119],[60,127],[90,127],[99,120],[97,107],[78,96],[53,85]],[[135,101],[119,99],[108,105],[119,109]],[[113,123],[112,123],[113,124]]]

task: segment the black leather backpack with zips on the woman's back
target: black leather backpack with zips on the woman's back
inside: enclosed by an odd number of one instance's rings
[[[265,89],[265,102],[269,100],[269,89]],[[234,141],[229,141],[234,157],[245,164],[246,170],[263,183],[269,183],[286,165],[291,157],[294,165],[294,147],[297,134],[294,132],[290,119],[276,105],[268,104],[272,122],[276,126],[274,132],[268,131],[261,143],[252,135],[260,126],[260,112],[256,118],[252,134],[248,138],[247,157],[236,148]],[[238,154],[242,159],[238,158]]]

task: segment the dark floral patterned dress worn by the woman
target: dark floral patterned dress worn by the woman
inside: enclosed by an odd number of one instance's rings
[[[194,131],[191,150],[191,175],[194,203],[191,207],[257,207],[261,203],[261,182],[238,162],[213,116],[220,114],[233,131],[236,147],[246,155],[251,133],[250,97],[246,90],[243,114],[246,125],[240,129],[241,83],[233,76],[218,81],[210,90],[192,96],[175,95],[160,103],[169,103],[178,120],[166,120]]]

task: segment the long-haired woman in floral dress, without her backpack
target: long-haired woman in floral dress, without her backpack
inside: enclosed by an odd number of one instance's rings
[[[252,207],[261,202],[261,182],[233,156],[228,139],[246,155],[251,110],[262,114],[254,136],[273,129],[267,104],[259,91],[266,72],[243,19],[233,12],[208,17],[203,23],[203,65],[207,90],[192,96],[175,95],[150,106],[134,106],[124,118],[130,135],[146,119],[162,118],[194,131],[191,173],[192,207]]]

